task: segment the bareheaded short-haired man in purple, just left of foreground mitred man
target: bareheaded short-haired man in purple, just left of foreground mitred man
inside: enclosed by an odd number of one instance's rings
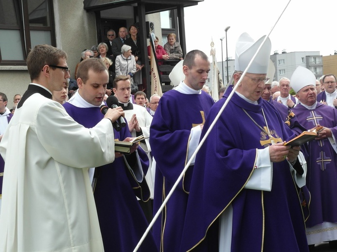
[[[201,91],[210,70],[205,53],[190,51],[182,67],[185,79],[160,98],[150,127],[150,145],[157,162],[154,214],[194,153],[202,125],[214,104],[212,97]],[[179,251],[193,164],[194,161],[153,226],[160,251]]]

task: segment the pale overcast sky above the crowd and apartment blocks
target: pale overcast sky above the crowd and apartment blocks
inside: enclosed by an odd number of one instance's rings
[[[221,41],[227,31],[228,57],[234,59],[235,42],[243,32],[256,41],[268,34],[289,0],[204,0],[185,8],[187,51],[199,49],[210,55],[211,41],[221,61]],[[337,0],[291,0],[270,34],[271,54],[285,49],[319,51],[320,55],[337,50]],[[223,40],[226,58],[226,39]]]

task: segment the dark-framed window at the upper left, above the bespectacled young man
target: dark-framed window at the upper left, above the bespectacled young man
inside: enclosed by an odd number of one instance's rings
[[[0,65],[25,65],[30,48],[55,46],[53,23],[53,0],[1,0]]]

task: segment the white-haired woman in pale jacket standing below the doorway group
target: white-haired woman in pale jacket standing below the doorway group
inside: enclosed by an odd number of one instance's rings
[[[133,79],[133,74],[136,72],[135,56],[131,53],[131,47],[123,45],[121,49],[122,54],[116,57],[116,76],[129,75]]]

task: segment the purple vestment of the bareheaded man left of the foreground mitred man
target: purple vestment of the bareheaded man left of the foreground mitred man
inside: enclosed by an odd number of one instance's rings
[[[205,122],[214,101],[209,94],[166,92],[150,127],[150,145],[155,158],[156,177],[153,213],[157,213],[187,163],[191,128]],[[179,251],[192,166],[153,226],[153,235],[161,251]]]

